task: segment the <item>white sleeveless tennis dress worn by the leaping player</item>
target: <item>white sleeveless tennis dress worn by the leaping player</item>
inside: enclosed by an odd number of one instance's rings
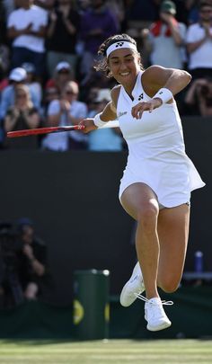
[[[130,99],[120,87],[117,115],[123,137],[128,143],[128,163],[120,180],[119,199],[132,183],[144,182],[155,191],[164,207],[172,208],[190,200],[192,190],[203,187],[197,169],[185,153],[181,118],[176,106],[165,103],[142,118],[132,117],[131,109],[139,101],[149,101],[141,82],[142,71]]]

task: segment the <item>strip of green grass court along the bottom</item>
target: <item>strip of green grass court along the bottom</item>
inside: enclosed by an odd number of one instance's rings
[[[0,341],[0,364],[211,364],[212,341]]]

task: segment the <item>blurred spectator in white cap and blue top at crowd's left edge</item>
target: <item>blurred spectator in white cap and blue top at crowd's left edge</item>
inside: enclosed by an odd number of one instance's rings
[[[27,73],[22,67],[13,68],[9,75],[9,85],[2,92],[0,103],[0,120],[4,120],[6,111],[14,104],[15,88],[19,84],[25,84]],[[30,90],[31,102],[33,106],[40,111],[40,102],[34,90]]]

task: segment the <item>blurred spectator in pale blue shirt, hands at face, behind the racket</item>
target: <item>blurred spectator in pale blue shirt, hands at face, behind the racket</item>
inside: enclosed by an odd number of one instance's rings
[[[47,126],[75,125],[87,116],[86,104],[77,100],[78,94],[79,88],[75,81],[65,84],[60,100],[54,100],[49,104]],[[42,147],[55,151],[85,149],[86,140],[87,135],[81,131],[66,131],[47,135],[42,140]]]

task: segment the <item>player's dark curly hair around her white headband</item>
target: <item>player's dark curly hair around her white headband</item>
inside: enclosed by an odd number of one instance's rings
[[[137,46],[136,40],[130,37],[128,34],[116,34],[109,37],[107,40],[104,40],[98,50],[99,59],[95,61],[95,70],[102,71],[106,74],[107,77],[111,77],[110,68],[108,67],[108,58],[106,57],[107,49],[119,40],[129,41],[130,43]],[[138,53],[137,53],[138,54]],[[143,69],[143,65],[140,64],[141,69]]]

